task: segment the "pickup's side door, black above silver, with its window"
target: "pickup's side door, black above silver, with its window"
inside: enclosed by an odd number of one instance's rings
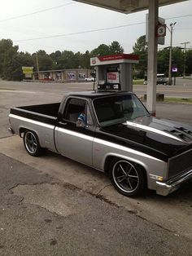
[[[77,126],[78,117],[82,115],[85,115],[85,126]],[[56,148],[63,156],[92,166],[93,140],[94,126],[88,102],[69,98],[55,128]]]

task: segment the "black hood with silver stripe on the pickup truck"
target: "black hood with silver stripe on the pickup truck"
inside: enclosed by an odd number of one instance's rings
[[[155,117],[138,117],[132,121],[103,127],[102,130],[119,138],[124,146],[135,142],[142,151],[162,152],[173,157],[192,148],[192,126]],[[122,140],[123,139],[123,140]],[[149,151],[148,151],[149,150]]]

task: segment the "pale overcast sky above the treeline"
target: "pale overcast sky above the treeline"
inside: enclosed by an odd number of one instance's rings
[[[160,7],[159,16],[166,19],[168,26],[177,22],[173,46],[190,42],[187,47],[192,48],[192,0]],[[125,15],[70,0],[3,0],[0,39],[10,38],[19,51],[30,53],[38,50],[84,53],[113,41],[120,42],[124,52],[130,53],[137,38],[146,33],[145,22],[146,11]],[[99,31],[88,32],[91,30]],[[167,31],[165,46],[169,46],[169,41]]]

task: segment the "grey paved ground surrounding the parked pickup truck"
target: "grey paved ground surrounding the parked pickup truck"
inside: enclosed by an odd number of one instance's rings
[[[130,199],[97,170],[53,152],[28,156],[7,133],[11,107],[91,86],[0,82],[0,254],[192,255],[191,183],[168,197]],[[157,104],[159,117],[192,124],[191,113],[192,105]]]

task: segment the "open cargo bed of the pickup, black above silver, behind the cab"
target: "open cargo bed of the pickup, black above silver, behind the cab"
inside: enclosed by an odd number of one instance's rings
[[[60,103],[31,105],[11,108],[11,130],[21,135],[24,130],[33,130],[39,139],[41,148],[56,152],[54,131]]]

